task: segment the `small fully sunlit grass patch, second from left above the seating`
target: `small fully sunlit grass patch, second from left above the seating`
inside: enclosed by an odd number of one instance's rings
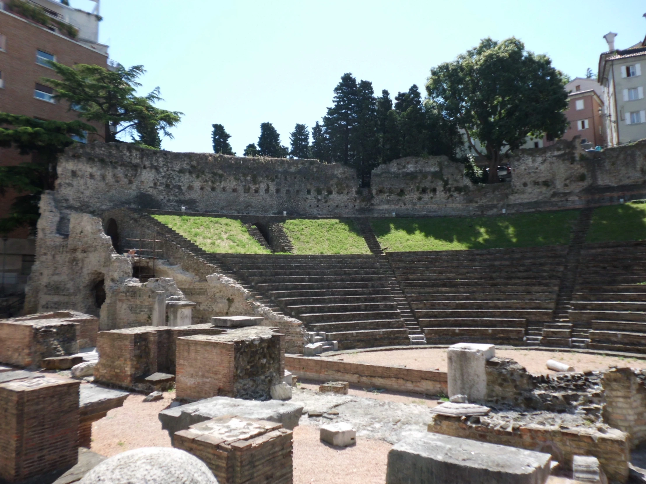
[[[370,254],[352,221],[337,219],[287,220],[285,232],[296,254]]]

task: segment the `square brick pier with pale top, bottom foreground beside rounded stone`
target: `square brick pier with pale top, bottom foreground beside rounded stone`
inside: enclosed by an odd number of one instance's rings
[[[173,447],[200,458],[220,484],[292,482],[292,432],[280,423],[207,420],[176,432]]]

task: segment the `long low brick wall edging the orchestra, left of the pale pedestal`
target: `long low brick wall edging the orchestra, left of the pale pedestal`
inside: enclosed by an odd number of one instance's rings
[[[448,392],[446,372],[348,363],[324,358],[285,356],[287,371],[316,381],[348,381],[396,392],[439,395]]]

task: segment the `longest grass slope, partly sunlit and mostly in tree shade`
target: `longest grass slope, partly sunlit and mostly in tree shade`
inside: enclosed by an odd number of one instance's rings
[[[384,250],[467,250],[567,244],[578,210],[498,217],[374,219]]]

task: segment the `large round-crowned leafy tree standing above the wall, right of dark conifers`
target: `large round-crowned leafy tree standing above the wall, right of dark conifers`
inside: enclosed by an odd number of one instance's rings
[[[426,91],[488,160],[488,180],[495,183],[505,148],[519,148],[528,136],[563,135],[568,106],[564,85],[565,76],[547,55],[528,52],[514,37],[501,42],[487,38],[455,61],[432,68]]]

